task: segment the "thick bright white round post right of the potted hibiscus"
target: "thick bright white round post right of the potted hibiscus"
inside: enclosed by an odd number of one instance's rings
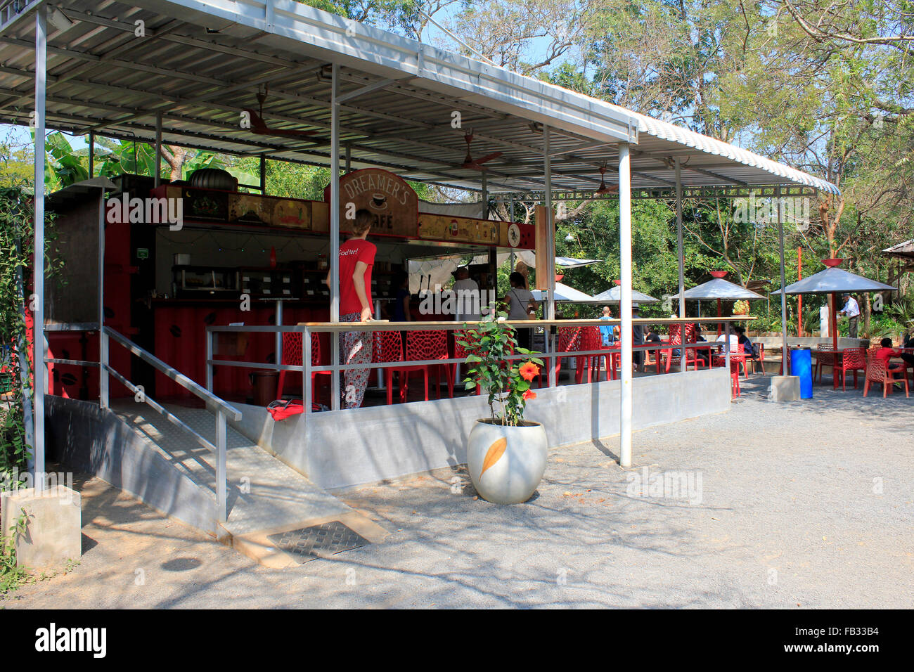
[[[619,144],[619,312],[622,324],[622,394],[619,413],[619,464],[632,466],[632,159],[629,144]],[[684,344],[685,345],[685,344]],[[683,353],[685,357],[685,352]]]

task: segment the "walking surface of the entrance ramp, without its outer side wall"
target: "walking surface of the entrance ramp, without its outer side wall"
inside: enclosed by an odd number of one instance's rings
[[[206,409],[165,404],[188,427],[215,443],[216,419]],[[112,404],[123,421],[143,435],[152,450],[165,455],[175,469],[212,497],[215,506],[215,455],[184,430],[145,404],[131,400]],[[231,427],[226,434],[228,520],[219,526],[219,541],[269,567],[297,564],[268,539],[288,530],[339,521],[372,543],[387,531],[346,506],[290,466],[283,464]]]

